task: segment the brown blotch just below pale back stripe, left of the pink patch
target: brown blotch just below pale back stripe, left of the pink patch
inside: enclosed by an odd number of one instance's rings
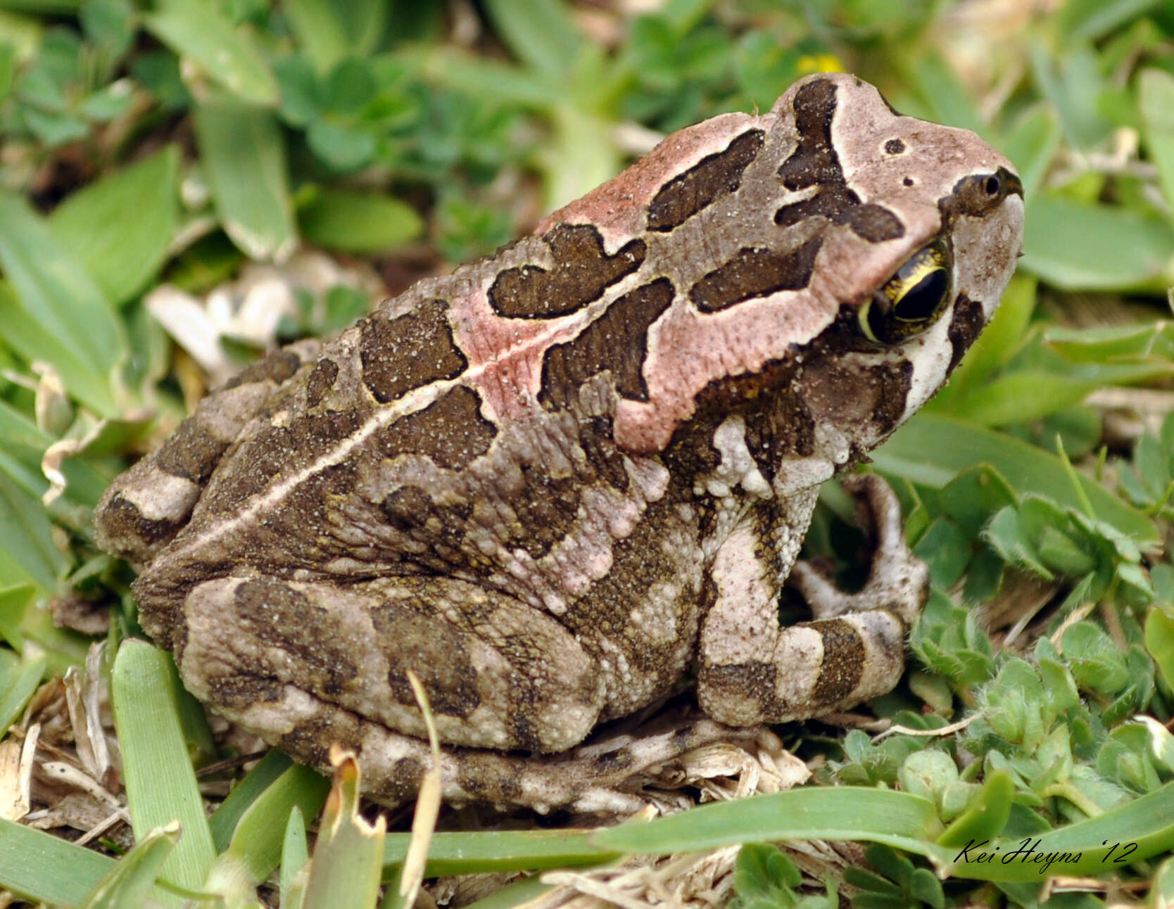
[[[420,454],[437,467],[460,470],[490,450],[497,427],[481,416],[480,395],[458,385],[423,411],[376,433],[376,448],[387,459]]]

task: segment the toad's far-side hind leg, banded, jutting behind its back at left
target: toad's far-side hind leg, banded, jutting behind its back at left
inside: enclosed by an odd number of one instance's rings
[[[321,347],[316,339],[282,347],[207,395],[163,445],[107,488],[94,514],[97,544],[130,562],[149,562],[188,523],[208,477],[244,425]]]

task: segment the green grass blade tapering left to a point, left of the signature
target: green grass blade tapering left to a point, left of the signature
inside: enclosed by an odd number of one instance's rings
[[[933,805],[918,795],[857,786],[799,788],[703,805],[595,833],[591,841],[621,853],[670,855],[743,842],[869,840],[923,852],[942,833]]]

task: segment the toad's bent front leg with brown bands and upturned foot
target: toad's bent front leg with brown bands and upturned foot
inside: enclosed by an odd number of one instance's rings
[[[884,481],[864,476],[844,486],[876,538],[859,592],[842,593],[804,563],[788,572],[816,490],[785,508],[761,504],[717,551],[697,684],[714,719],[748,726],[818,717],[883,694],[900,678],[905,633],[925,602],[929,570],[905,545],[900,508]],[[780,628],[784,581],[807,598],[815,620]]]

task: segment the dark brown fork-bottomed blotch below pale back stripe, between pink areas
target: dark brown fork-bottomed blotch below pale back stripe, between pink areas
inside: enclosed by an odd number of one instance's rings
[[[648,328],[673,303],[674,293],[668,278],[657,278],[620,297],[573,340],[553,345],[542,359],[539,400],[554,407],[574,405],[579,386],[609,369],[622,396],[647,401],[641,369],[648,353]]]

